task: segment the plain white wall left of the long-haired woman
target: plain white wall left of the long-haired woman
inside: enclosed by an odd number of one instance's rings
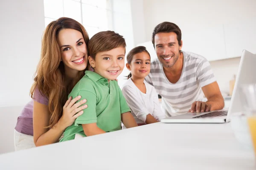
[[[43,0],[0,1],[0,106],[29,101],[44,31]]]

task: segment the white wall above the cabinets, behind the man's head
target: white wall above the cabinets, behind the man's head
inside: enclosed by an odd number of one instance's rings
[[[211,28],[256,18],[255,0],[143,0],[143,5],[146,41],[151,40],[154,27],[163,21],[176,23],[186,37],[198,24]]]

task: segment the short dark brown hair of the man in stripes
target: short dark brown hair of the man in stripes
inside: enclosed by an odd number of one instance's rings
[[[179,45],[181,45],[181,31],[180,31],[180,28],[175,23],[163,22],[163,23],[158,24],[154,28],[154,31],[152,34],[153,45],[155,45],[154,44],[155,35],[160,32],[166,32],[166,33],[174,32],[175,34],[177,34],[177,40],[178,40]]]

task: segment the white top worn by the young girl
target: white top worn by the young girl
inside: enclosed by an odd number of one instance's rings
[[[128,79],[122,88],[123,95],[137,123],[145,123],[148,114],[160,121],[165,118],[165,115],[160,108],[157,91],[146,81],[144,83],[146,94],[142,93],[131,79]]]

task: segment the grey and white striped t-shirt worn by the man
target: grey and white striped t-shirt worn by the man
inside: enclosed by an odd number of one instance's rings
[[[202,101],[202,87],[215,82],[207,59],[191,52],[183,52],[183,70],[180,79],[169,82],[158,59],[151,62],[151,70],[145,80],[162,96],[166,116],[175,116],[189,111],[192,102]]]

